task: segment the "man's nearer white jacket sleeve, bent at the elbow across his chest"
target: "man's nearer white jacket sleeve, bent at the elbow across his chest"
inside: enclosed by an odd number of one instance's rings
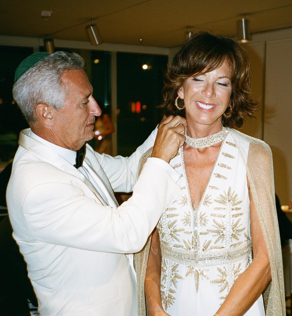
[[[133,196],[118,208],[98,203],[71,184],[43,183],[27,193],[23,213],[36,240],[85,250],[132,253],[142,249],[166,205],[179,194],[179,186],[165,169],[146,162]]]

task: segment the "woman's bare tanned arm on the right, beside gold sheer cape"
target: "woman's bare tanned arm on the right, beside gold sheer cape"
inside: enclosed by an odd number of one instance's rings
[[[226,300],[216,312],[220,316],[241,316],[246,313],[271,281],[269,255],[251,190],[249,198],[253,260],[236,279]]]

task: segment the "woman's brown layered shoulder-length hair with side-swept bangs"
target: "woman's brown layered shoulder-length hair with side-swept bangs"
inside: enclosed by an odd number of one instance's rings
[[[159,106],[164,114],[185,116],[174,105],[177,92],[183,82],[192,76],[205,74],[220,67],[224,61],[230,66],[232,92],[230,105],[222,116],[226,127],[239,128],[243,120],[253,116],[258,102],[251,98],[249,57],[246,51],[231,37],[214,35],[210,32],[194,33],[173,57],[168,67],[162,89],[163,104]],[[179,107],[183,100],[178,99]]]

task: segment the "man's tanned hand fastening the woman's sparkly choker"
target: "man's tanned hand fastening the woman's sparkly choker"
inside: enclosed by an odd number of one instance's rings
[[[169,163],[185,142],[185,127],[186,119],[180,116],[171,115],[161,121],[151,157],[160,158]]]

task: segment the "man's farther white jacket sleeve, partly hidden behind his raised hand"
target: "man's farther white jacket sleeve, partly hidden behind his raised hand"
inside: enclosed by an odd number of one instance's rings
[[[99,155],[95,152],[95,156],[99,160],[101,167],[106,173],[113,191],[133,191],[140,157],[145,151],[154,145],[156,134],[157,127],[146,139],[146,141],[141,146],[139,146],[130,157],[112,157],[105,154]]]

